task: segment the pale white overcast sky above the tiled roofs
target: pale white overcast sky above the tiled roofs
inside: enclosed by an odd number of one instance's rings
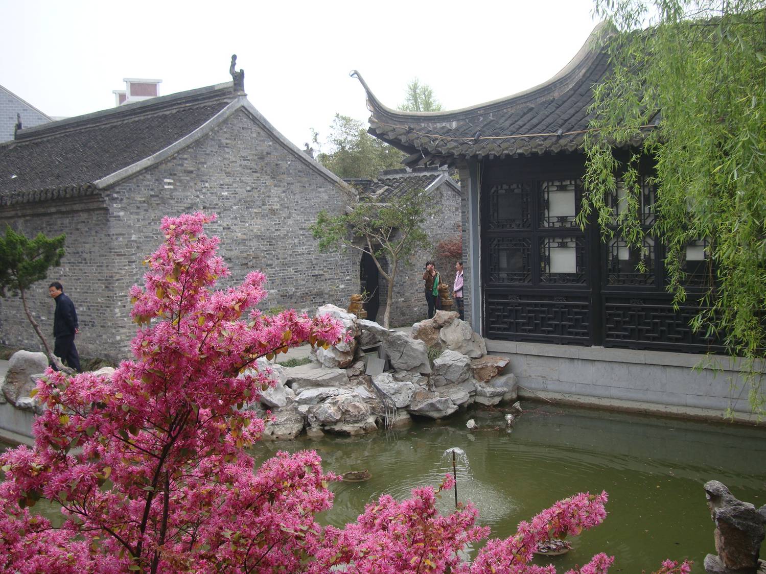
[[[460,109],[554,76],[597,24],[592,11],[593,0],[0,0],[0,85],[78,116],[113,107],[123,78],[162,80],[163,96],[229,81],[237,54],[250,103],[303,148],[336,113],[366,122],[351,70],[386,106],[417,77]]]

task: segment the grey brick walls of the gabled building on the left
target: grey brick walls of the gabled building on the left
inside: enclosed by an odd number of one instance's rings
[[[270,291],[261,308],[313,311],[326,302],[345,307],[359,289],[358,259],[319,254],[308,230],[319,210],[342,209],[342,191],[243,110],[172,158],[103,191],[97,206],[81,202],[22,204],[4,210],[0,223],[28,235],[67,233],[67,256],[49,278],[61,280],[77,306],[83,356],[129,353],[136,328],[128,289],[141,281],[142,260],[161,243],[165,215],[218,214],[208,233],[221,237],[219,253],[231,270],[218,286],[234,285],[260,269]],[[47,283],[35,285],[31,306],[44,332],[51,331]],[[18,300],[0,306],[0,343],[37,348]]]

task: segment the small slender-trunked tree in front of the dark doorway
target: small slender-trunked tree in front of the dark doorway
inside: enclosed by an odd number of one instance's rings
[[[394,285],[401,262],[407,262],[418,247],[430,246],[423,225],[431,212],[430,197],[422,189],[391,197],[385,204],[355,201],[348,213],[330,216],[319,213],[311,227],[319,250],[357,249],[369,253],[378,272],[388,282],[383,326],[388,328]],[[388,270],[381,261],[388,261]]]

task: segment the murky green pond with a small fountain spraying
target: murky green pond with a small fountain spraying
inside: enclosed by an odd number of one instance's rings
[[[314,448],[323,468],[342,474],[368,470],[364,482],[333,484],[335,502],[321,517],[336,526],[356,519],[384,493],[403,498],[411,488],[437,485],[458,458],[460,501],[472,501],[480,523],[506,537],[520,520],[578,491],[609,493],[607,519],[571,539],[564,556],[542,559],[564,572],[597,552],[616,556],[612,572],[647,572],[663,559],[689,558],[693,572],[715,553],[714,525],[702,484],[718,480],[742,501],[766,504],[766,429],[525,403],[515,429],[502,409],[471,411],[448,422],[362,437],[261,443],[263,459],[277,450]],[[478,429],[469,431],[473,418]],[[453,495],[440,501],[454,506]],[[766,547],[761,557],[766,556]]]

